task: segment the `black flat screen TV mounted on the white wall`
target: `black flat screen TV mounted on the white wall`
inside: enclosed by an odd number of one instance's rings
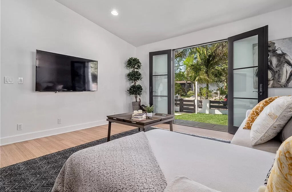
[[[97,61],[36,50],[36,91],[97,91]]]

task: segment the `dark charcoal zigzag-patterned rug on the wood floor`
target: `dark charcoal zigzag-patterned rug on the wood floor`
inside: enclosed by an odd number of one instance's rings
[[[156,129],[154,127],[147,128],[146,131]],[[132,135],[138,133],[138,129],[133,129],[130,131],[125,131],[116,135],[111,136],[111,140],[121,138],[124,136]],[[185,133],[183,133],[185,134]],[[211,139],[215,141],[220,141],[224,143],[230,143],[227,140],[221,140],[218,138],[209,138],[204,136],[197,136],[192,134],[187,134],[191,136]],[[74,152],[85,149],[87,147],[92,147],[105,143],[107,138],[102,138],[96,141],[78,145],[76,147],[71,147],[62,151],[37,157],[35,159],[30,159],[21,163],[16,163],[11,166],[7,166],[0,169],[0,191],[1,192],[49,192],[52,190],[62,166],[65,161]]]

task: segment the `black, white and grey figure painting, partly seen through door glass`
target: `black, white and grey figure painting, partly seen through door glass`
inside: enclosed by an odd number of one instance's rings
[[[268,52],[268,87],[292,87],[292,37],[269,41]],[[258,63],[258,44],[253,44],[253,63]],[[253,84],[258,88],[256,67]]]

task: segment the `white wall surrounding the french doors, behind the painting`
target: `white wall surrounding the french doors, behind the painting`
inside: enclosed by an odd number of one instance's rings
[[[175,38],[137,47],[137,57],[144,64],[142,74],[145,74],[143,88],[146,95],[149,94],[149,52],[165,49],[177,49],[201,43],[227,39],[230,36],[250,31],[265,25],[269,25],[269,40],[277,40],[292,36],[292,11],[291,7],[258,15],[237,22],[215,26],[212,28],[196,31]],[[175,27],[175,26],[174,26]],[[147,81],[146,81],[147,79]],[[292,88],[269,88],[269,96],[291,95]],[[147,102],[149,98],[147,97]]]

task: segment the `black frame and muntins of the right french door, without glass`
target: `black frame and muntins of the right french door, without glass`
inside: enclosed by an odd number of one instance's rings
[[[233,42],[258,35],[258,66],[233,68]],[[233,97],[233,70],[258,67],[258,102],[268,97],[268,26],[247,31],[228,38],[228,132],[235,134],[238,127],[233,126],[233,99],[256,99]],[[260,93],[262,84],[262,93]]]

